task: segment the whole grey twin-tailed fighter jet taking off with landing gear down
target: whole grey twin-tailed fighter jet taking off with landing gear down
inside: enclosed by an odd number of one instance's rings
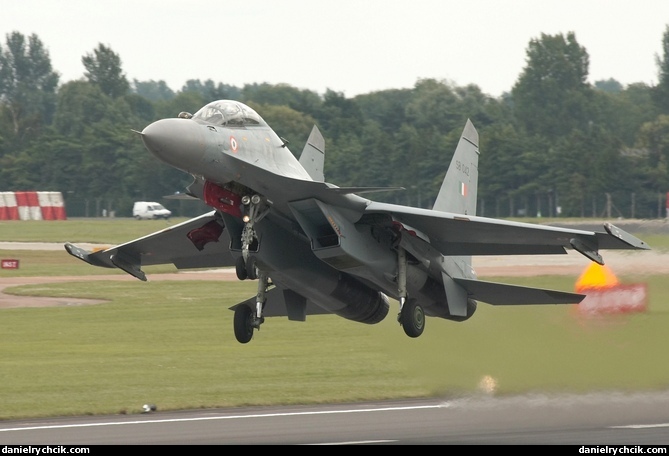
[[[360,196],[398,187],[326,182],[325,141],[316,126],[298,159],[237,101],[214,101],[137,133],[158,159],[192,175],[185,193],[212,210],[105,250],[65,249],[140,280],[147,280],[145,265],[234,267],[239,280],[258,282],[255,296],[230,308],[240,343],[251,341],[265,317],[336,314],[379,323],[391,300],[414,338],[427,316],[465,321],[478,301],[577,304],[585,295],[478,280],[472,256],[575,250],[604,264],[601,249],[649,249],[608,223],[593,232],[476,216],[479,137],[469,120],[432,209]]]

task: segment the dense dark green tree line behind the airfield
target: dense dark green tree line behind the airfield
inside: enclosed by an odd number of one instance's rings
[[[133,130],[235,99],[256,109],[299,156],[316,124],[325,177],[339,186],[402,186],[377,200],[429,208],[467,119],[480,135],[478,214],[491,217],[665,217],[669,192],[669,26],[658,83],[589,84],[573,33],[530,40],[526,66],[500,97],[436,79],[352,98],[288,84],[236,87],[130,81],[99,44],[83,76],[61,82],[37,35],[0,45],[0,191],[60,191],[69,216],[130,216],[136,200],[176,215],[208,208],[164,199],[191,177],[157,161]]]

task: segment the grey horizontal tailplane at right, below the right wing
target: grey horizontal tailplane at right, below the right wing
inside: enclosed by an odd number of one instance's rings
[[[456,278],[453,280],[467,290],[470,298],[494,306],[578,304],[585,298],[585,295],[565,291],[529,288],[472,279]]]

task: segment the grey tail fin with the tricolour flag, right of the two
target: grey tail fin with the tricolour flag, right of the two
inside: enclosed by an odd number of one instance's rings
[[[474,124],[467,119],[433,209],[476,215],[478,177],[479,134]]]

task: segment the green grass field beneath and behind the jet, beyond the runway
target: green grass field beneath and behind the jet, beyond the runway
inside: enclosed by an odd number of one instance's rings
[[[0,241],[111,244],[177,221],[2,222]],[[657,236],[654,248],[667,245]],[[11,275],[109,274],[62,251],[2,251]],[[172,272],[172,267],[150,273]],[[119,272],[121,275],[125,273]],[[360,401],[420,396],[658,390],[666,362],[669,281],[643,280],[649,310],[584,318],[575,306],[479,303],[463,323],[430,318],[408,338],[397,307],[374,326],[335,316],[270,318],[246,345],[228,307],[255,282],[90,281],[13,287],[15,294],[97,298],[90,306],[0,310],[0,419]],[[576,277],[495,278],[572,290]],[[395,303],[393,303],[395,305]]]

